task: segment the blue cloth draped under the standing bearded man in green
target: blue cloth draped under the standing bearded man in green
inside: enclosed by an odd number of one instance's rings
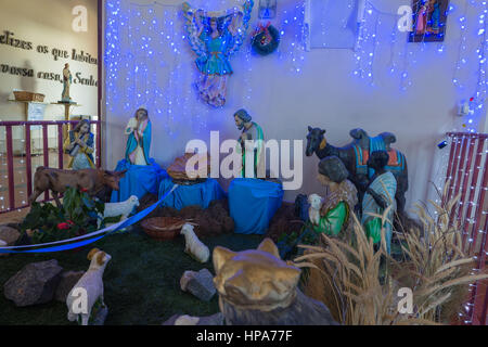
[[[279,183],[236,178],[229,188],[229,209],[240,234],[265,234],[283,202]]]

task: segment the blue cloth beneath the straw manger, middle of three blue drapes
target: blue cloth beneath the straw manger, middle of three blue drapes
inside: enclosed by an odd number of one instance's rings
[[[171,190],[171,179],[164,179],[159,184],[159,196],[166,194]],[[226,197],[226,192],[215,179],[207,179],[203,183],[192,185],[179,185],[171,195],[169,195],[162,206],[168,206],[178,210],[185,206],[198,205],[202,208],[207,208],[214,200],[221,200]]]

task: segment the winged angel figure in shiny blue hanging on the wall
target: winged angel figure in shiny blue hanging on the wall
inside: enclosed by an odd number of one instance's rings
[[[188,37],[201,74],[196,88],[202,100],[211,106],[226,104],[227,79],[233,73],[229,59],[244,41],[253,5],[253,0],[245,0],[241,8],[205,12],[183,3]]]

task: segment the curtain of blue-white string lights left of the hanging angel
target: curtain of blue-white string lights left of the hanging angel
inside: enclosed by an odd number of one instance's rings
[[[224,2],[221,2],[224,4]],[[195,56],[189,47],[181,5],[106,1],[106,104],[128,119],[145,106],[164,134],[176,138],[179,124],[193,133],[207,129],[209,107],[192,88]]]

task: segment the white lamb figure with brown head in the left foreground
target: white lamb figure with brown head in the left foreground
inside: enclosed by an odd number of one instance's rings
[[[93,248],[88,254],[90,268],[79,279],[66,297],[68,308],[67,319],[73,322],[79,317],[81,325],[88,325],[93,305],[100,299],[101,307],[105,307],[103,300],[103,272],[112,257],[98,248]],[[82,303],[82,299],[86,303]],[[80,312],[81,311],[81,312]]]

